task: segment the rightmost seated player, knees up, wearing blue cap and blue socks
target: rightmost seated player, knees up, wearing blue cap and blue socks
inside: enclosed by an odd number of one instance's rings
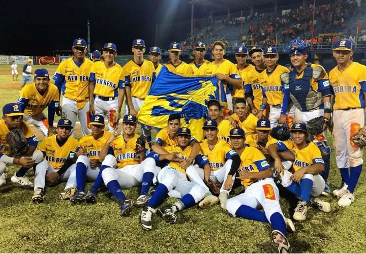
[[[282,186],[300,198],[293,218],[302,221],[306,219],[308,205],[323,212],[330,212],[330,204],[316,198],[323,192],[325,186],[325,181],[319,174],[324,170],[324,161],[318,146],[306,140],[308,135],[306,124],[293,123],[290,132],[292,140],[269,145],[268,151],[272,158],[275,158],[275,169],[280,174]],[[287,150],[295,154],[292,173],[284,170],[278,153]]]

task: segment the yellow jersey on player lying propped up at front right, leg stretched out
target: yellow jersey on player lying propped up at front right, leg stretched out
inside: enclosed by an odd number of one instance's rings
[[[246,170],[249,173],[259,172],[269,168],[265,156],[261,151],[254,147],[246,147],[240,154],[240,167],[238,171]],[[241,184],[245,187],[251,185],[258,179],[242,179]]]

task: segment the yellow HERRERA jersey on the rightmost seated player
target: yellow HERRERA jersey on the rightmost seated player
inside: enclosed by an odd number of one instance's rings
[[[318,146],[311,141],[302,149],[297,148],[293,140],[279,141],[276,145],[279,151],[290,150],[295,154],[295,161],[292,164],[295,171],[316,163],[324,165]]]

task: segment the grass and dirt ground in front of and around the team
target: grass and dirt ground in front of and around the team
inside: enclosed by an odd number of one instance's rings
[[[38,67],[34,66],[33,70]],[[53,66],[47,66],[55,70]],[[21,67],[18,67],[21,69]],[[10,66],[1,66],[8,70]],[[21,80],[19,75],[18,80]],[[16,102],[19,82],[10,74],[0,75],[0,108]],[[40,137],[42,138],[42,137]],[[329,137],[331,142],[331,137]],[[332,145],[332,144],[330,144]],[[13,186],[10,177],[17,167],[8,167],[8,182],[0,189],[0,252],[277,252],[271,245],[270,225],[233,218],[219,205],[207,210],[190,208],[178,213],[175,225],[153,217],[154,230],[139,226],[139,209],[129,217],[120,217],[117,202],[104,189],[95,205],[72,206],[59,201],[65,183],[46,189],[42,204],[33,204],[33,189]],[[331,189],[340,183],[340,174],[331,156],[329,182]],[[33,181],[33,171],[27,176]],[[87,183],[86,189],[91,183]],[[237,195],[241,187],[234,189]],[[138,197],[138,189],[124,190],[129,198]],[[310,208],[307,220],[295,223],[296,232],[288,239],[294,252],[364,252],[366,245],[366,186],[362,173],[355,192],[355,202],[347,208],[338,207],[337,199],[323,198],[331,204],[331,212]],[[165,203],[172,203],[169,198]],[[282,210],[290,216],[290,205],[281,199]]]

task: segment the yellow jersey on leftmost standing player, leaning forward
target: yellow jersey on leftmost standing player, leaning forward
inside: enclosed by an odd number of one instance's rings
[[[49,82],[47,91],[44,94],[39,93],[34,82],[26,84],[20,90],[18,105],[22,108],[24,114],[29,116],[38,115],[48,105],[52,104],[58,107],[58,89],[52,82]]]

